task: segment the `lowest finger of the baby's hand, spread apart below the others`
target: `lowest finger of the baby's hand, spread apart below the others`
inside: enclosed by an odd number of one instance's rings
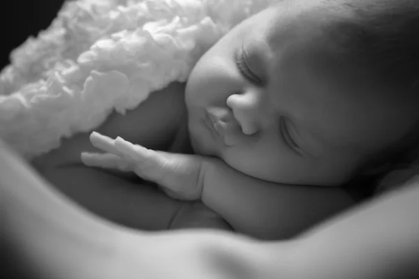
[[[103,169],[119,169],[130,171],[131,165],[124,159],[112,153],[82,152],[82,163],[88,167],[100,167]]]

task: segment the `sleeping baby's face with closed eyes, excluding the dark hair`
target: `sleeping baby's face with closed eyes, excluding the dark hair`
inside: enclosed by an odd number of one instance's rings
[[[412,120],[402,100],[328,56],[316,27],[324,16],[286,2],[242,22],[198,61],[186,86],[191,141],[258,179],[339,185]]]

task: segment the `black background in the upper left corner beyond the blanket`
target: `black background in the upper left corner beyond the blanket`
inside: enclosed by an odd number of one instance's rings
[[[10,51],[29,36],[50,26],[64,0],[3,0],[0,2],[0,69],[9,63]]]

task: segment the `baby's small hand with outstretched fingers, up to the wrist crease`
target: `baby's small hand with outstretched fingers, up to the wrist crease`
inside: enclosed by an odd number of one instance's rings
[[[82,162],[90,167],[134,172],[155,182],[170,197],[200,199],[203,192],[202,159],[199,156],[166,153],[91,133],[91,143],[106,153],[82,153]]]

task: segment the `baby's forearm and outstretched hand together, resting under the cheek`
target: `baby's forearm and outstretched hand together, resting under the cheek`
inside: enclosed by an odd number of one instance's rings
[[[293,236],[353,204],[339,188],[262,181],[216,158],[153,151],[97,133],[91,142],[108,153],[84,153],[86,165],[132,171],[170,197],[202,199],[237,232],[260,239]]]

